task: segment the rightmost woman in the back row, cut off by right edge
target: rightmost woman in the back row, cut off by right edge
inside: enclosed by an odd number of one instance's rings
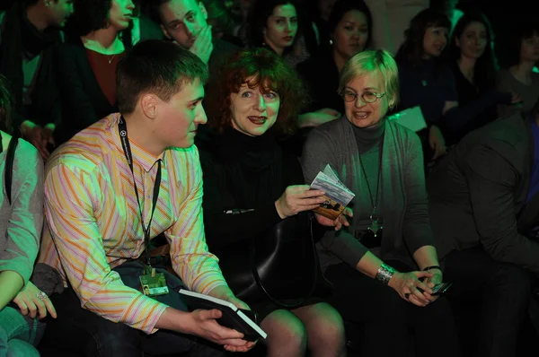
[[[508,53],[508,63],[499,71],[496,87],[499,91],[518,94],[521,103],[500,105],[499,116],[508,117],[516,110],[524,110],[526,114],[530,114],[535,101],[539,98],[539,74],[534,72],[534,66],[539,63],[539,25],[537,22],[520,23],[516,30],[511,31],[505,50]]]

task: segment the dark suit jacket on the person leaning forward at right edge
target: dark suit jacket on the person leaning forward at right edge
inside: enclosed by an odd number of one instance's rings
[[[482,248],[539,273],[539,244],[519,232],[537,225],[539,197],[526,206],[534,160],[529,118],[516,114],[473,131],[427,179],[438,256]]]

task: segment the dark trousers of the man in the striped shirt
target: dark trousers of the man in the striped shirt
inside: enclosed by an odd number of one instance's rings
[[[142,265],[140,267],[142,268]],[[122,276],[122,280],[128,284],[127,281],[132,279]],[[168,276],[167,284],[170,286]],[[146,335],[125,324],[101,318],[81,308],[80,300],[71,287],[62,294],[51,296],[50,299],[57,309],[57,318],[50,318],[47,321],[44,340],[65,353],[88,357],[225,355],[222,347],[207,344],[206,341],[196,339],[194,336],[166,330]]]

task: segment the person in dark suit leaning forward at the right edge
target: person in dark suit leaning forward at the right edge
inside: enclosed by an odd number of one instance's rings
[[[539,100],[470,134],[427,178],[430,222],[456,307],[480,302],[481,356],[514,356],[539,274]],[[533,273],[533,274],[530,274]]]

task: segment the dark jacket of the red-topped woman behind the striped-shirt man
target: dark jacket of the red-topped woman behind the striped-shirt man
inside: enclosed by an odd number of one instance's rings
[[[82,42],[59,46],[56,61],[62,100],[62,126],[56,140],[61,144],[118,109],[103,94]]]

